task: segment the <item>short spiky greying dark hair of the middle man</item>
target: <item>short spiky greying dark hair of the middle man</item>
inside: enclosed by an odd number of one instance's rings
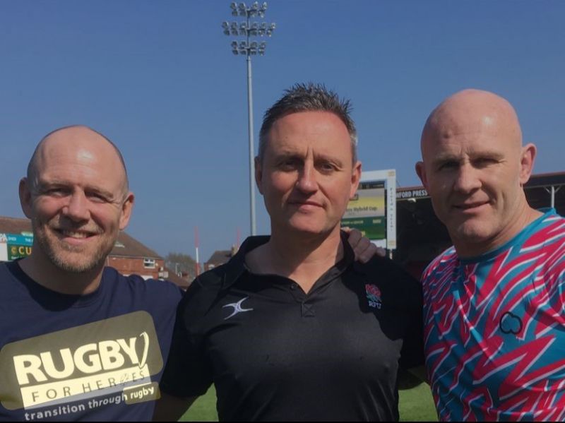
[[[263,124],[259,131],[258,160],[263,162],[268,133],[278,119],[297,112],[331,112],[340,118],[347,128],[351,139],[353,162],[357,162],[357,129],[355,129],[355,122],[350,117],[351,110],[350,100],[340,99],[335,92],[328,90],[323,84],[297,83],[293,85],[285,90],[285,95],[275,102],[263,116]]]

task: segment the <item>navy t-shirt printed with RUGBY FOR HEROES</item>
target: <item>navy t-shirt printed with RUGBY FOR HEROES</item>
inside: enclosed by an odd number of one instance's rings
[[[0,420],[139,421],[153,415],[182,291],[105,268],[60,294],[0,264]]]

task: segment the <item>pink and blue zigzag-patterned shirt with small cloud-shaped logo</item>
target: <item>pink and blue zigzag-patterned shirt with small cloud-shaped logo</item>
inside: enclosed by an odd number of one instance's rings
[[[441,420],[565,419],[565,219],[422,275],[424,347]]]

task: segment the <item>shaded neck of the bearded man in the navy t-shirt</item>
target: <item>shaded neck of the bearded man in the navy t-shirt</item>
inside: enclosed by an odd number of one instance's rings
[[[104,269],[102,263],[88,272],[71,273],[55,266],[49,258],[33,253],[18,264],[23,272],[39,285],[69,295],[86,295],[97,290]]]

